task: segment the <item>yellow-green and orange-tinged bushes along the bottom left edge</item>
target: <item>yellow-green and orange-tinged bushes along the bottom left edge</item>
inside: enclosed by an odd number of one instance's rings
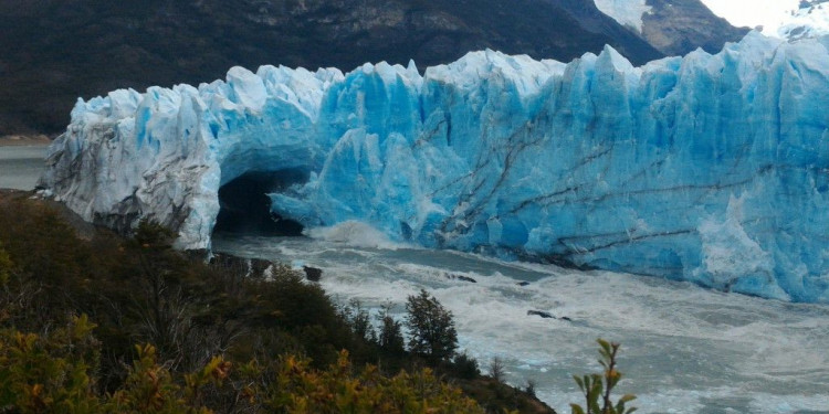
[[[0,331],[0,412],[9,413],[470,413],[484,411],[431,370],[387,378],[367,365],[355,373],[348,353],[325,370],[285,354],[234,371],[214,357],[190,373],[159,364],[155,347],[136,347],[126,380],[96,392],[98,346],[85,316],[48,336]],[[217,396],[228,395],[227,399]],[[225,403],[225,402],[231,403]]]

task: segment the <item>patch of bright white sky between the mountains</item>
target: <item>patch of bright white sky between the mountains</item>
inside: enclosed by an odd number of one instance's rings
[[[701,0],[714,14],[736,26],[775,25],[798,0]]]

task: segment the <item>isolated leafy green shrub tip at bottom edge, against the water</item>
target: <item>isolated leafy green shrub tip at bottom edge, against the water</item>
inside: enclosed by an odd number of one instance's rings
[[[625,404],[636,400],[636,395],[625,394],[616,405],[610,399],[610,392],[622,376],[621,372],[616,369],[616,353],[619,351],[619,344],[604,339],[598,339],[597,342],[599,342],[599,354],[601,354],[599,363],[605,368],[605,372],[604,374],[584,376],[573,375],[578,388],[585,394],[585,407],[570,404],[573,414],[629,414],[634,412],[637,408],[626,408]]]

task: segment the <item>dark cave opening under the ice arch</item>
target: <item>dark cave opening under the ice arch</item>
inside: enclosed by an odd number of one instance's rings
[[[271,212],[267,193],[277,192],[308,174],[298,169],[250,171],[219,189],[219,215],[213,232],[300,236],[303,225]]]

